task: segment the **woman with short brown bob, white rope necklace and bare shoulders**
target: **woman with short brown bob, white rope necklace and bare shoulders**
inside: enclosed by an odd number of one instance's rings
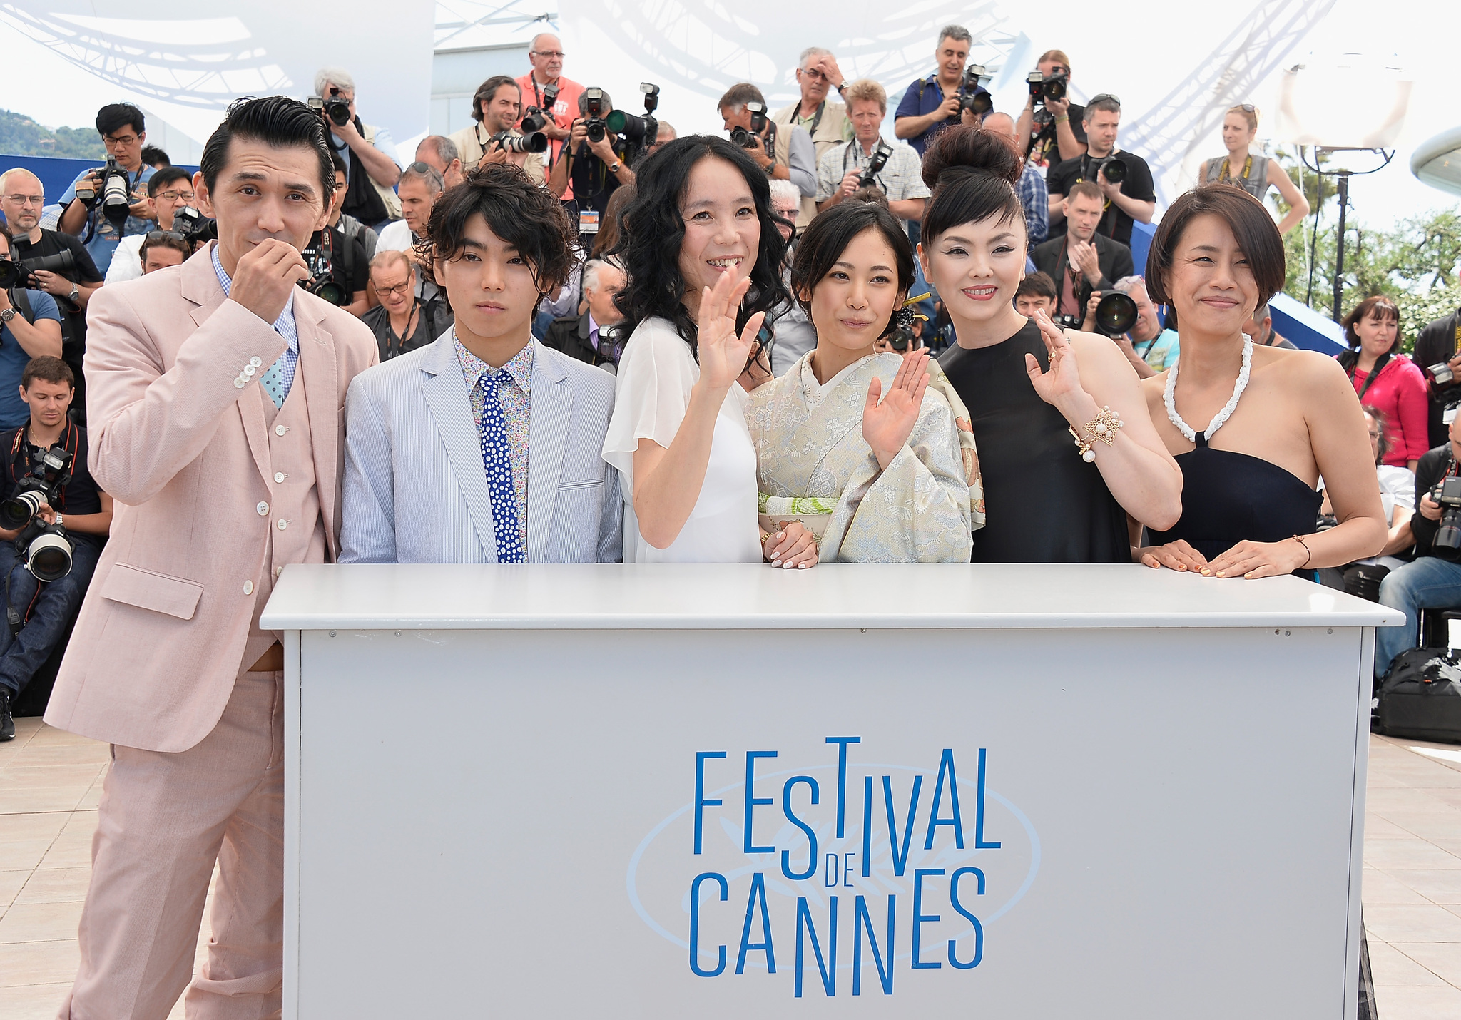
[[[1185,481],[1180,520],[1138,549],[1148,567],[1312,577],[1385,545],[1365,412],[1344,370],[1243,335],[1283,281],[1278,228],[1242,189],[1207,184],[1161,218],[1147,292],[1172,308],[1169,326],[1176,314],[1182,358],[1143,389]],[[1315,532],[1321,475],[1340,523]]]

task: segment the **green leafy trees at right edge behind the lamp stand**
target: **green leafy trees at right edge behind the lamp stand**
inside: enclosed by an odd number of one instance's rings
[[[1315,311],[1334,317],[1334,256],[1338,203],[1335,178],[1319,177],[1299,164],[1294,153],[1280,149],[1289,177],[1303,190],[1311,209],[1319,209],[1318,237],[1315,215],[1284,235],[1289,276],[1284,292],[1305,301]],[[1313,162],[1313,152],[1305,153]],[[1324,167],[1327,156],[1319,155]],[[1287,203],[1271,197],[1278,215]],[[1416,333],[1461,305],[1457,269],[1461,266],[1461,209],[1439,209],[1403,219],[1388,229],[1373,229],[1359,221],[1351,205],[1344,224],[1344,278],[1340,314],[1372,294],[1385,294],[1400,308],[1401,348],[1410,351]],[[1312,281],[1312,285],[1311,285]]]

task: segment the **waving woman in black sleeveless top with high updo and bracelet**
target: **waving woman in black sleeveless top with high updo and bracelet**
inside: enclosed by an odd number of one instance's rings
[[[957,339],[939,365],[969,406],[983,469],[973,561],[1129,563],[1126,514],[1175,523],[1182,475],[1115,343],[1014,310],[1020,174],[1008,143],[973,126],[945,129],[923,156],[934,194],[919,257]]]

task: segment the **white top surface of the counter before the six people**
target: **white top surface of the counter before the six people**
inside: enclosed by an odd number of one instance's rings
[[[1296,577],[1125,564],[291,566],[262,625],[375,630],[1392,627]]]

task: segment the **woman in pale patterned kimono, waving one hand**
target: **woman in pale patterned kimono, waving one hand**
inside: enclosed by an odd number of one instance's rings
[[[966,473],[928,355],[877,352],[912,285],[907,235],[874,205],[817,216],[792,264],[817,346],[751,393],[747,419],[761,529],[801,522],[823,563],[969,563],[977,459]]]

